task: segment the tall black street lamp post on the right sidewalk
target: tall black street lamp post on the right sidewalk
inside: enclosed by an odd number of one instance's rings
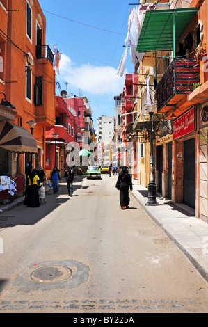
[[[159,205],[156,200],[156,184],[154,180],[154,155],[153,155],[153,120],[155,104],[145,104],[150,115],[150,182],[148,184],[148,201],[145,205]]]

